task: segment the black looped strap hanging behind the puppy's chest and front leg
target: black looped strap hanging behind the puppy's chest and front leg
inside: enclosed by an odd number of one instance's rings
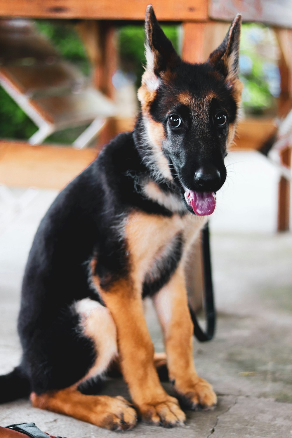
[[[214,337],[216,325],[216,310],[214,304],[214,292],[212,282],[210,240],[208,223],[202,231],[202,253],[203,253],[203,277],[204,277],[204,311],[206,315],[206,330],[202,330],[195,312],[190,308],[190,316],[193,321],[193,334],[200,342],[210,341]]]

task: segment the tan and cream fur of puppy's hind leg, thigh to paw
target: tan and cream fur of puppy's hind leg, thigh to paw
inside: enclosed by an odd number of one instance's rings
[[[96,301],[85,298],[75,304],[80,316],[82,336],[91,339],[96,359],[87,374],[66,389],[32,392],[32,406],[63,413],[110,430],[128,430],[137,422],[137,414],[123,397],[88,396],[77,390],[78,385],[102,374],[117,354],[116,326],[109,310]],[[77,332],[78,332],[77,329]],[[78,357],[76,357],[78,361]],[[74,366],[74,364],[72,364]]]

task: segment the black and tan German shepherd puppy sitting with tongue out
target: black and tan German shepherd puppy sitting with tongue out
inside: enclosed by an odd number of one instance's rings
[[[35,235],[22,286],[21,364],[0,379],[1,401],[32,405],[112,430],[137,413],[183,424],[162,388],[143,314],[150,296],[164,332],[169,378],[190,409],[216,395],[193,364],[184,268],[226,178],[242,86],[238,15],[204,64],[183,62],[146,12],[147,66],[133,132],[119,134],[67,185]],[[78,390],[118,357],[134,407]]]

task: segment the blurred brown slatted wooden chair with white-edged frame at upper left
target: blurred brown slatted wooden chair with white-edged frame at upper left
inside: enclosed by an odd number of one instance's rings
[[[83,148],[116,113],[113,102],[63,60],[30,20],[0,21],[0,59],[0,85],[39,127],[28,139],[32,145],[55,131],[90,124],[73,143]]]

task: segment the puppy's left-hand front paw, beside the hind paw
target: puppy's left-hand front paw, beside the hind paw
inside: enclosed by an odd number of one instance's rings
[[[178,400],[170,396],[163,400],[142,404],[138,406],[138,411],[142,420],[157,426],[182,426],[186,420],[186,415],[180,409]]]

